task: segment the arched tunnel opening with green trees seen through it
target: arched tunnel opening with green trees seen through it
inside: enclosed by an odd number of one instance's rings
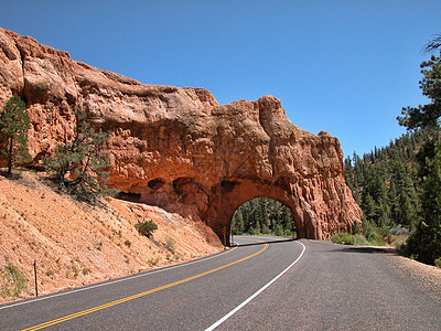
[[[230,234],[297,238],[295,223],[290,209],[267,197],[256,197],[237,207],[232,218]]]

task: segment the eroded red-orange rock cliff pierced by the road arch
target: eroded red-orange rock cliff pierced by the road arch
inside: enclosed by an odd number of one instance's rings
[[[0,63],[0,106],[13,93],[25,99],[34,162],[73,137],[79,106],[112,132],[110,185],[128,199],[219,235],[258,196],[289,206],[301,237],[324,239],[361,220],[338,140],[299,129],[272,96],[219,105],[206,89],[141,84],[2,29]]]

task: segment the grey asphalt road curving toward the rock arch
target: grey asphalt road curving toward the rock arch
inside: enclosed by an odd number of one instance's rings
[[[275,237],[0,306],[0,330],[441,330],[441,301],[375,249]]]

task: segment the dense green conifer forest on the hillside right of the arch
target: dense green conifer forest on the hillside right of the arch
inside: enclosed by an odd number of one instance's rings
[[[407,132],[375,147],[369,153],[357,153],[344,160],[346,184],[363,211],[363,233],[367,241],[407,235],[421,221],[421,169],[418,152],[440,135],[439,128]]]

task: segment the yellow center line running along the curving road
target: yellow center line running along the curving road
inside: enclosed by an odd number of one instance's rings
[[[258,241],[258,242],[260,242],[260,241]],[[184,278],[184,279],[181,279],[181,280],[178,280],[178,281],[174,281],[174,282],[170,282],[170,284],[166,284],[166,285],[163,285],[163,286],[160,286],[160,287],[157,287],[157,288],[153,288],[153,289],[150,289],[150,290],[147,290],[147,291],[130,296],[130,297],[126,297],[126,298],[122,298],[122,299],[119,299],[119,300],[115,300],[115,301],[111,301],[111,302],[108,302],[108,303],[104,303],[104,305],[96,306],[96,307],[93,307],[93,308],[89,308],[89,309],[86,309],[86,310],[82,310],[82,311],[78,311],[78,312],[75,312],[75,313],[58,318],[56,320],[47,321],[47,322],[42,323],[42,324],[37,324],[37,325],[34,325],[34,327],[31,327],[31,328],[26,328],[26,329],[23,329],[22,331],[41,330],[41,329],[44,329],[44,328],[47,328],[47,327],[51,327],[51,325],[55,325],[55,324],[58,324],[58,323],[62,323],[62,322],[65,322],[65,321],[68,321],[68,320],[76,319],[78,317],[82,317],[82,316],[85,316],[85,314],[88,314],[88,313],[92,313],[92,312],[95,312],[95,311],[99,311],[99,310],[103,310],[103,309],[106,309],[106,308],[109,308],[109,307],[114,307],[114,306],[117,306],[117,305],[120,305],[120,303],[123,303],[123,302],[127,302],[127,301],[130,301],[130,300],[133,300],[133,299],[138,299],[138,298],[141,298],[141,297],[158,292],[160,290],[168,289],[168,288],[171,288],[173,286],[176,286],[176,285],[180,285],[180,284],[183,284],[183,282],[187,282],[187,281],[196,279],[196,278],[204,277],[206,275],[216,273],[218,270],[228,268],[228,267],[234,266],[236,264],[239,264],[239,263],[241,263],[244,260],[247,260],[247,259],[249,259],[251,257],[255,257],[256,255],[259,255],[260,253],[262,253],[266,249],[268,249],[268,247],[269,247],[269,245],[265,244],[263,248],[260,249],[259,252],[254,253],[251,255],[248,255],[248,256],[246,256],[246,257],[244,257],[241,259],[238,259],[238,260],[236,260],[234,263],[229,263],[229,264],[227,264],[225,266],[217,267],[215,269],[212,269],[212,270],[208,270],[208,271],[195,275],[195,276],[191,276],[189,278]]]

